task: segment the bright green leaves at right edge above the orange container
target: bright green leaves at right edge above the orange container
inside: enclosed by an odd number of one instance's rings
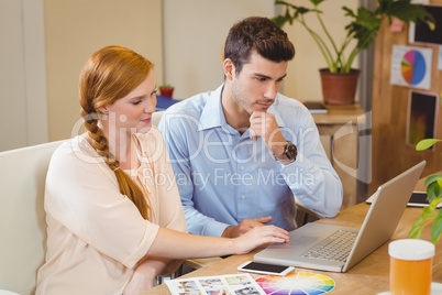
[[[421,140],[417,145],[417,151],[423,151],[431,148],[442,140],[426,139]],[[442,234],[442,210],[437,210],[437,206],[442,203],[442,175],[430,175],[426,179],[427,198],[430,206],[424,207],[422,214],[412,225],[409,238],[419,239],[422,230],[433,222],[431,228],[431,242],[437,243]]]

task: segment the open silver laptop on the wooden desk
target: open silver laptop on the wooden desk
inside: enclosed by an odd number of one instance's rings
[[[330,272],[349,271],[391,238],[426,163],[422,161],[379,186],[360,229],[307,223],[290,232],[288,243],[267,247],[254,255],[254,261]],[[328,247],[334,250],[322,253]],[[333,256],[335,252],[343,253]]]

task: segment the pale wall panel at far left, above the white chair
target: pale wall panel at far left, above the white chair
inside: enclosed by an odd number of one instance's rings
[[[0,151],[47,141],[42,0],[0,0]]]

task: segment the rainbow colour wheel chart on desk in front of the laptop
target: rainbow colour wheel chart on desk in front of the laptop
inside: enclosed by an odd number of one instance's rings
[[[320,295],[332,291],[335,283],[327,275],[317,273],[289,273],[286,276],[266,275],[256,278],[266,294]]]

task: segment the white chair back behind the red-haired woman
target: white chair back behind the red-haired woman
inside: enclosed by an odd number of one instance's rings
[[[43,208],[51,142],[0,153],[0,294],[35,293],[46,251]]]

